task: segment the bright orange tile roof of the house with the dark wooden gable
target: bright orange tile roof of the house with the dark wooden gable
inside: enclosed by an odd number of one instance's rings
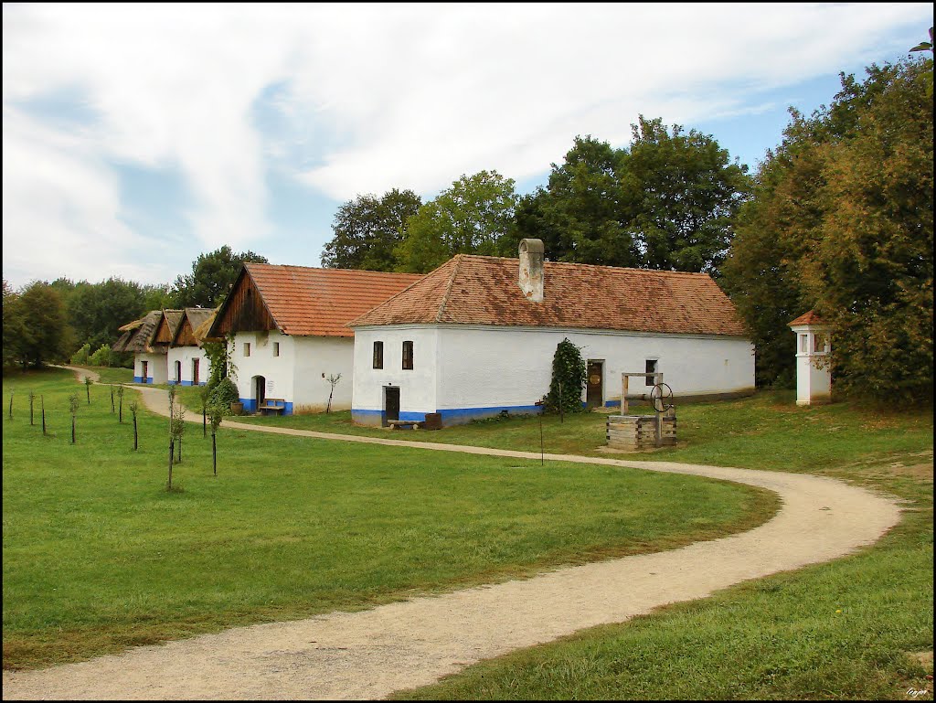
[[[285,334],[352,337],[347,323],[422,278],[416,273],[245,263]]]

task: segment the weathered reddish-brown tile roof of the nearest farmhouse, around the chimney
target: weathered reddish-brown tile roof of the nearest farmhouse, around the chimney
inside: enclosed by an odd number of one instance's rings
[[[459,255],[352,321],[473,324],[746,336],[707,273],[544,264],[542,302],[518,285],[519,259]]]

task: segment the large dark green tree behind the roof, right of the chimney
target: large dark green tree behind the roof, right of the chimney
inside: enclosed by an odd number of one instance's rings
[[[695,130],[643,115],[631,128],[622,149],[577,137],[548,186],[520,202],[517,239],[542,239],[561,261],[717,273],[747,167]]]

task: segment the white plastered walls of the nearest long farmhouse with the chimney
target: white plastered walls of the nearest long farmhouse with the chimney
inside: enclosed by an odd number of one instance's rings
[[[462,408],[532,406],[547,392],[556,345],[568,338],[583,359],[604,360],[604,402],[620,402],[622,372],[657,361],[677,398],[754,388],[753,344],[739,337],[492,326],[358,328],[354,409],[383,406],[383,388],[401,387],[401,415]],[[400,369],[402,340],[415,345],[414,370]],[[373,342],[384,342],[384,369],[372,369]],[[649,390],[632,378],[629,394]],[[582,400],[585,391],[582,391]]]

